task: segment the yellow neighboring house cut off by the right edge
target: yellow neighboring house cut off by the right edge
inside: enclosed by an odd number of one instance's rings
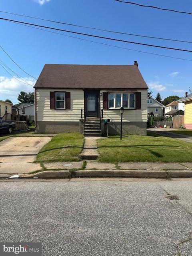
[[[178,100],[185,104],[185,128],[192,129],[192,93],[188,95],[185,93],[185,97]]]

